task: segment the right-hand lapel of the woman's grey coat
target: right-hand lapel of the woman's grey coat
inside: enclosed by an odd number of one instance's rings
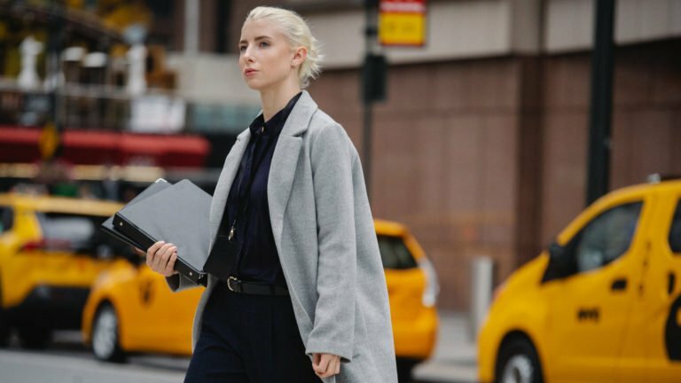
[[[284,229],[284,213],[294,184],[295,169],[301,154],[301,135],[308,129],[317,104],[306,90],[289,114],[279,134],[277,146],[272,155],[270,177],[267,183],[267,199],[270,207],[270,223],[274,242],[281,254],[281,233]],[[281,256],[281,255],[280,255]]]

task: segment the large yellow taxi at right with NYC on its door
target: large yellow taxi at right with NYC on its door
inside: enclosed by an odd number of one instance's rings
[[[496,292],[481,382],[681,381],[681,181],[613,191]]]

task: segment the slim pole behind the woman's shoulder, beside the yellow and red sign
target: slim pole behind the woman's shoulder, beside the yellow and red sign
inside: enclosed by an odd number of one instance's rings
[[[366,10],[366,27],[364,29],[365,36],[365,54],[364,66],[370,65],[369,55],[371,53],[378,53],[379,47],[379,0],[365,0],[364,6]],[[363,75],[363,101],[364,101],[364,135],[362,140],[362,152],[364,153],[364,182],[366,184],[366,194],[369,200],[372,199],[372,120],[373,120],[373,102],[372,97],[367,97],[366,90],[368,78]]]

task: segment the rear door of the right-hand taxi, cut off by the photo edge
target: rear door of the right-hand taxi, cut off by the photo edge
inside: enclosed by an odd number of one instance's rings
[[[623,373],[651,383],[681,381],[681,190],[659,200],[622,359]]]

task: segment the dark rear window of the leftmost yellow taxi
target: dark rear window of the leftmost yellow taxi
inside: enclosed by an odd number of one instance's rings
[[[71,251],[108,258],[129,249],[99,230],[106,217],[63,213],[37,213],[43,230],[43,249]]]

